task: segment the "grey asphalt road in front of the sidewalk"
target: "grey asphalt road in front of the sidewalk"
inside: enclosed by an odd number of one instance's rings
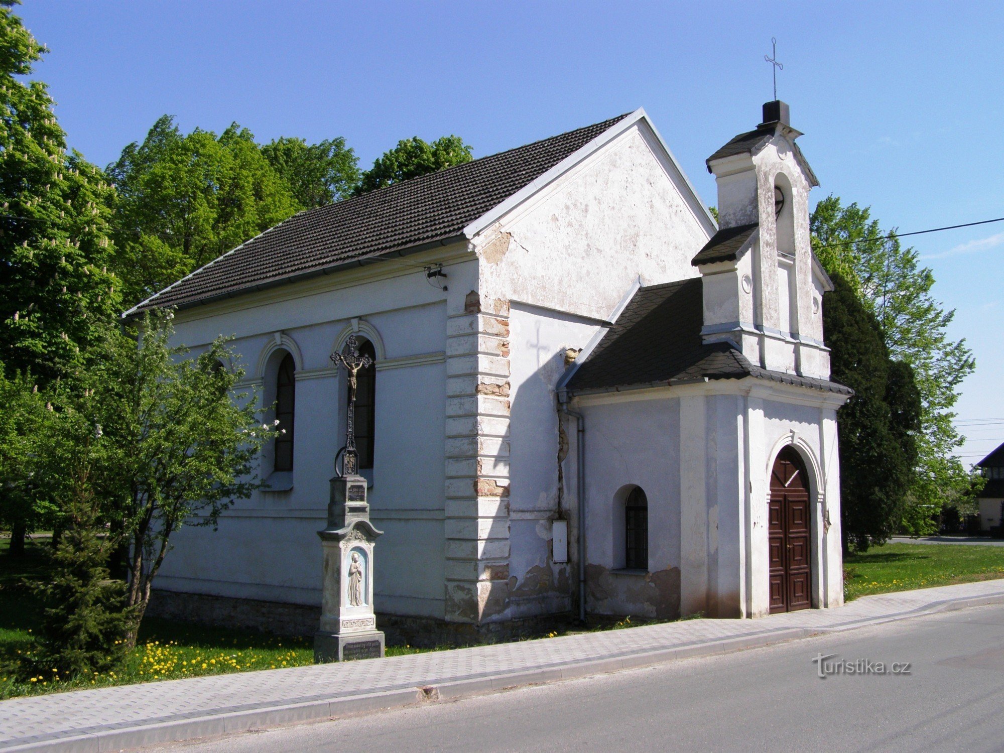
[[[818,655],[887,674],[820,679]],[[1004,750],[1004,605],[156,750],[767,749]]]

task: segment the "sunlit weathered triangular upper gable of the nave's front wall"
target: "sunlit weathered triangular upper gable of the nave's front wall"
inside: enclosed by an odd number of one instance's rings
[[[473,240],[483,296],[605,319],[633,282],[697,276],[714,228],[645,120]]]

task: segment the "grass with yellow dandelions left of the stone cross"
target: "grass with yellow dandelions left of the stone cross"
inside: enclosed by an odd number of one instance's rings
[[[33,651],[41,620],[41,604],[25,581],[46,576],[48,542],[30,541],[27,555],[21,559],[10,557],[8,544],[9,540],[0,539],[0,699],[313,663],[309,639],[147,617],[136,649],[117,672],[64,679],[43,671],[33,680],[18,679],[18,669]],[[419,651],[410,646],[389,646],[387,655]]]

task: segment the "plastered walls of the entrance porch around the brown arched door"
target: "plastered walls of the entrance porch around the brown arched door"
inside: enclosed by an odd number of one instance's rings
[[[753,380],[577,399],[586,426],[587,606],[647,616],[657,602],[676,604],[669,616],[766,614],[770,470],[789,445],[810,476],[812,605],[841,604],[840,403]],[[626,484],[649,497],[647,575],[617,571],[614,520]],[[673,568],[672,579],[653,582]]]

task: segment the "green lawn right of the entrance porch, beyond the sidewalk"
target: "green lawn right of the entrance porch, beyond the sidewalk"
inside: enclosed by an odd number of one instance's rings
[[[843,597],[1004,578],[1004,547],[886,544],[843,560]]]

